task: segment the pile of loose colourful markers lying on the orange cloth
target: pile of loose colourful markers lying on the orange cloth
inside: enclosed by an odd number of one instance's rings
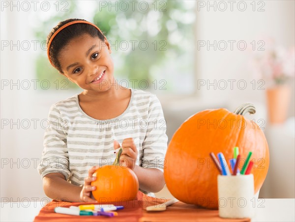
[[[124,209],[123,206],[113,204],[87,204],[70,207],[56,207],[54,212],[74,216],[118,216],[116,210]]]

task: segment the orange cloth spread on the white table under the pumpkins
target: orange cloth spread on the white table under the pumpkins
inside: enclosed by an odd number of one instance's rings
[[[195,205],[177,202],[167,208],[166,211],[148,212],[145,210],[147,206],[163,203],[166,200],[147,196],[142,192],[138,192],[136,199],[130,201],[121,201],[114,203],[123,205],[124,209],[118,211],[116,217],[105,216],[72,216],[65,214],[57,214],[54,212],[55,207],[69,207],[79,206],[83,203],[79,202],[64,202],[53,200],[44,206],[39,214],[35,217],[34,222],[223,222],[223,221],[236,221],[236,222],[249,222],[250,219],[222,219],[218,216],[218,210],[207,210]],[[95,203],[87,203],[95,204]]]

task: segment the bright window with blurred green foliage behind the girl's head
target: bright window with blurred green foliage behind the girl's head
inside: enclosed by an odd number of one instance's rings
[[[68,18],[83,18],[97,25],[108,38],[115,63],[115,78],[124,87],[157,94],[194,92],[195,1],[59,1],[63,13],[37,13],[35,35],[46,39],[51,28]],[[39,80],[52,87],[78,86],[53,67],[46,53],[36,60]],[[57,81],[58,79],[58,81]],[[56,81],[56,83],[54,83]]]

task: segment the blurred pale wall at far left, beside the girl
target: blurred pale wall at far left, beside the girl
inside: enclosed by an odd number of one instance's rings
[[[31,43],[34,37],[29,23],[20,22],[26,18],[28,12],[24,11],[1,12],[1,41],[9,40],[10,44],[10,41],[16,43],[18,40],[28,40]],[[2,24],[5,26],[2,27]],[[7,198],[10,201],[18,201],[18,198],[33,200],[34,197],[45,196],[36,169],[43,149],[44,127],[40,122],[47,118],[50,105],[63,97],[34,90],[34,63],[28,61],[33,61],[37,52],[32,46],[28,51],[23,50],[26,47],[13,47],[12,50],[4,47],[1,50],[1,201],[6,201]],[[37,44],[37,50],[40,50],[40,44]],[[3,81],[6,83],[6,80],[9,81],[8,86],[4,85]],[[19,80],[20,88],[15,85],[11,90],[10,80],[13,83]],[[22,85],[22,81],[31,83],[28,90],[24,89],[28,85]],[[30,123],[28,129],[26,119]],[[31,119],[36,119],[36,127]],[[8,125],[5,125],[6,120],[9,121]],[[16,124],[11,125],[12,122]],[[44,126],[46,127],[46,122]]]

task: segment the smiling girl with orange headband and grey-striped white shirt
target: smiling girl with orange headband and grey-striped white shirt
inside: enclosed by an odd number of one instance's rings
[[[93,172],[112,164],[122,147],[120,164],[132,169],[148,195],[165,185],[166,123],[161,104],[149,92],[124,88],[114,77],[108,40],[85,20],[68,19],[47,38],[50,63],[76,83],[80,94],[52,105],[50,127],[38,172],[45,194],[53,199],[88,202]],[[121,145],[120,145],[121,143]]]

